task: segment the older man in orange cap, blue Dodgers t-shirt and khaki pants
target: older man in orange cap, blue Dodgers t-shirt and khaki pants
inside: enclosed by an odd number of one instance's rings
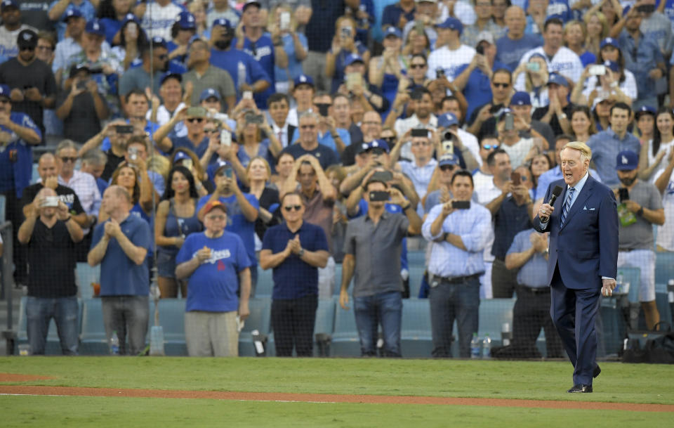
[[[227,207],[204,207],[201,233],[185,239],[176,256],[176,278],[188,278],[185,340],[190,356],[239,356],[237,317],[249,315],[251,261],[239,235],[225,230]],[[237,292],[240,291],[240,297]]]

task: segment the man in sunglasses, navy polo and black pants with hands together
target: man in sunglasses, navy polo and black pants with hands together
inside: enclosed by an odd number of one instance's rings
[[[300,119],[301,120],[301,119]],[[260,266],[274,269],[272,330],[276,355],[313,355],[313,333],[318,307],[318,268],[330,256],[323,229],[303,221],[304,200],[296,192],[281,198],[284,223],[267,229]]]

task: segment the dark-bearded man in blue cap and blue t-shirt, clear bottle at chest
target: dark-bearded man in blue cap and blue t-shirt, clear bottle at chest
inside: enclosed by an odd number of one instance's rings
[[[230,73],[237,89],[237,100],[244,91],[263,93],[272,84],[260,63],[232,46],[234,28],[230,20],[218,18],[211,30],[211,64]]]

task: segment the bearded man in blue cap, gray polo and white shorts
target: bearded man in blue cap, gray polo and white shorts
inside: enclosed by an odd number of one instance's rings
[[[618,153],[616,172],[622,184],[614,190],[619,199],[618,268],[641,270],[639,301],[649,330],[660,320],[655,304],[655,252],[653,224],[665,223],[665,210],[659,190],[647,181],[637,179],[639,157],[632,150]],[[619,284],[620,285],[620,284]]]

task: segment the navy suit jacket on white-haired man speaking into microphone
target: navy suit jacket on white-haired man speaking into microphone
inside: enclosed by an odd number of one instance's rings
[[[555,201],[555,212],[548,228],[541,229],[538,216],[534,228],[550,232],[548,283],[552,283],[555,267],[559,266],[562,282],[576,290],[602,287],[602,276],[616,278],[618,270],[618,211],[611,189],[588,176],[576,202],[569,209],[564,226],[560,227],[562,205],[567,197],[567,183],[550,183],[544,201],[550,200],[555,186],[564,191]]]

